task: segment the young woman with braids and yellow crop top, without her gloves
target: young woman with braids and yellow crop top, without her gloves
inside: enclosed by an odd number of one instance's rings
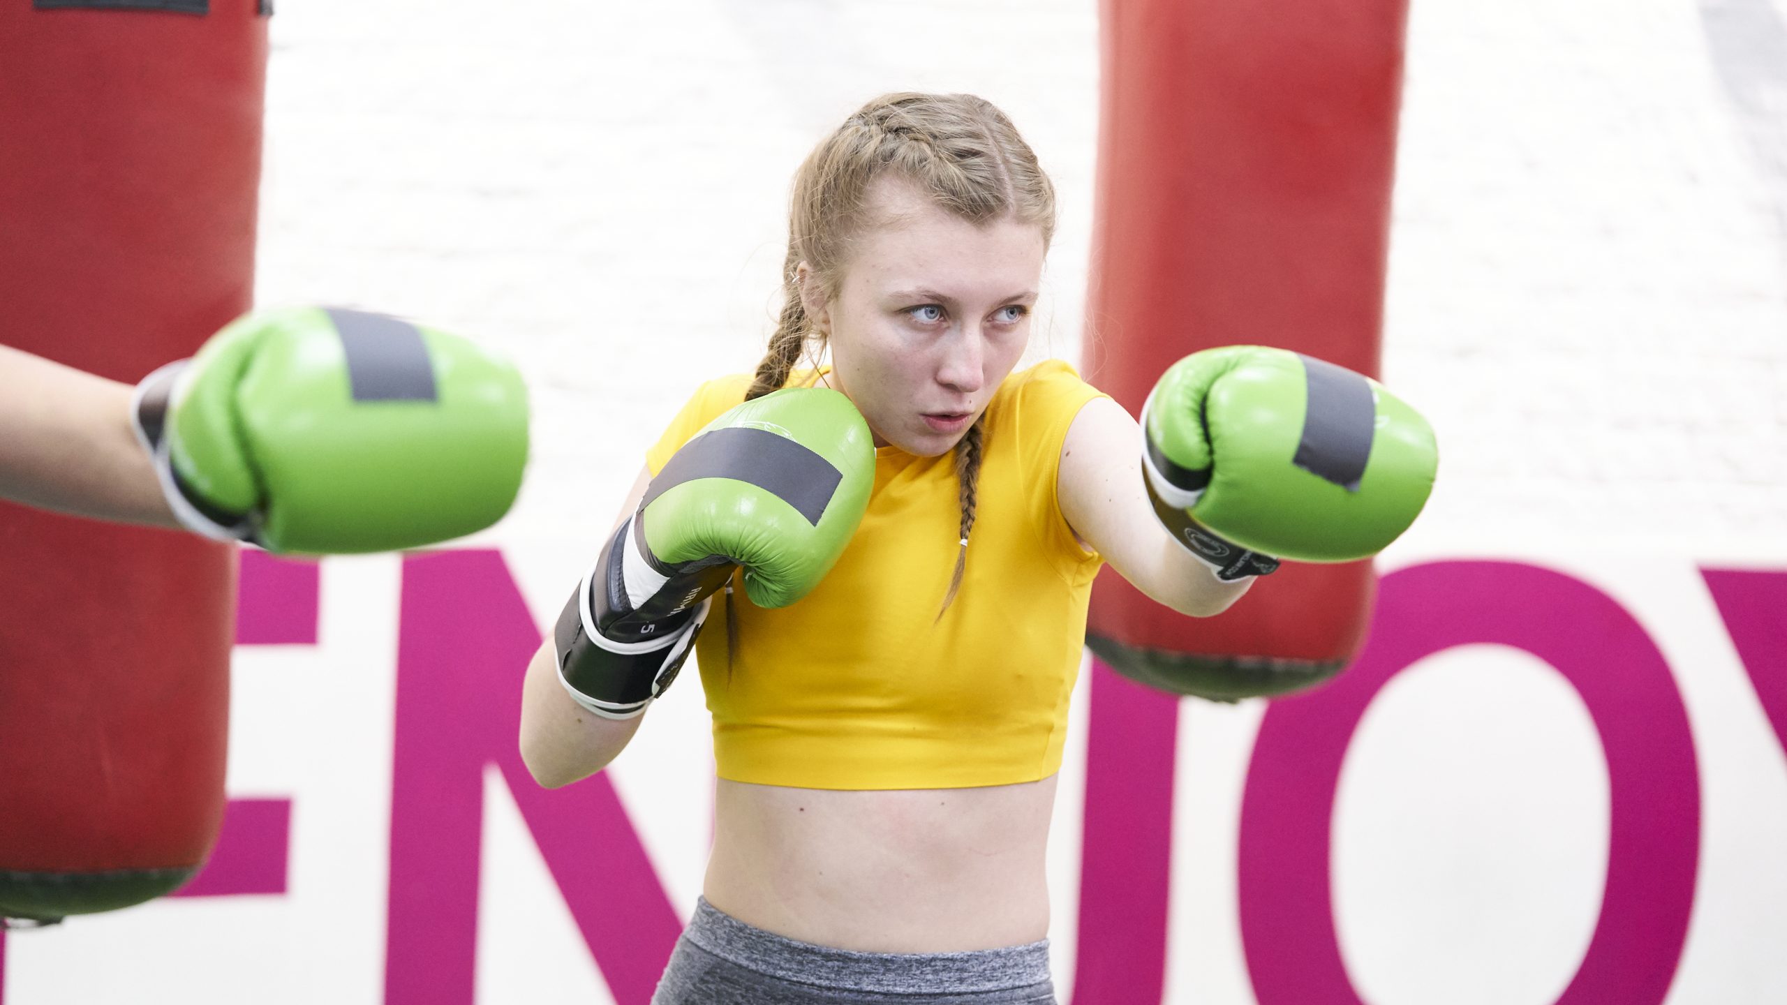
[[[1267,567],[1219,579],[1156,519],[1137,422],[1065,363],[1013,372],[1053,229],[1049,179],[988,102],[886,95],[852,114],[795,177],[768,354],[754,376],[704,384],[649,451],[593,590],[529,665],[534,776],[600,771],[679,662],[575,669],[586,637],[606,633],[595,647],[611,662],[645,638],[606,628],[627,601],[604,579],[668,574],[679,601],[702,576],[715,585],[711,569],[654,554],[652,477],[717,417],[784,386],[842,392],[867,420],[867,513],[836,563],[790,606],[727,588],[701,635],[715,840],[659,1005],[1054,1001],[1044,846],[1092,578],[1108,562],[1160,603],[1212,615]],[[829,368],[797,368],[820,350]],[[652,617],[659,637],[699,619],[688,603]],[[591,694],[625,672],[652,687]]]

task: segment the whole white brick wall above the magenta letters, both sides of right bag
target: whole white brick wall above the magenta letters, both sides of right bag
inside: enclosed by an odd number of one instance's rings
[[[1778,32],[1774,4],[1412,5],[1385,377],[1442,435],[1419,533],[1774,547],[1787,72],[1707,34]],[[586,535],[697,372],[756,361],[788,179],[874,93],[976,91],[1026,132],[1061,193],[1038,349],[1076,356],[1095,4],[527,11],[289,4],[268,88],[259,300],[429,318],[527,368],[540,445],[495,540]]]

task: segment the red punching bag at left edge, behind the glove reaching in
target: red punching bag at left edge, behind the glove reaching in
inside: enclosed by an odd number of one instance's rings
[[[138,381],[243,313],[264,75],[256,0],[0,4],[0,338]],[[232,626],[231,547],[0,502],[0,916],[197,871]]]

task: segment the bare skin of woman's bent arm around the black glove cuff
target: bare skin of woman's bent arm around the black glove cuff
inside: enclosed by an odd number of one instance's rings
[[[642,469],[615,528],[638,508],[650,479],[650,470]],[[608,767],[638,731],[642,719],[643,714],[633,719],[602,719],[572,701],[559,683],[550,637],[527,662],[527,680],[522,683],[522,762],[534,781],[547,789],[570,785]]]

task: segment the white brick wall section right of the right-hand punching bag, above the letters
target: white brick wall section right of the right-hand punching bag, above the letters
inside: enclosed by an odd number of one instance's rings
[[[1787,38],[1767,0],[1412,5],[1385,376],[1442,435],[1422,533],[1782,554],[1787,61],[1716,50],[1721,9]]]

